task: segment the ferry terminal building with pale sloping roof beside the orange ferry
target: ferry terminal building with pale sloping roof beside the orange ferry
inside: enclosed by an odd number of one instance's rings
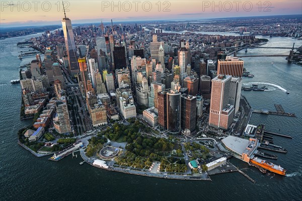
[[[221,140],[221,144],[236,158],[239,158],[245,162],[250,162],[250,159],[254,157],[254,153],[257,153],[259,141],[255,138],[246,140],[243,138],[228,136]]]

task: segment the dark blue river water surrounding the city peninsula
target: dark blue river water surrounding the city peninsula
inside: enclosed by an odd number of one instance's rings
[[[219,33],[216,33],[219,34]],[[39,34],[33,35],[38,36]],[[32,120],[20,121],[19,66],[33,58],[20,61],[17,42],[30,36],[2,40],[0,52],[0,196],[1,200],[299,200],[302,195],[302,70],[288,64],[284,57],[247,57],[244,66],[255,75],[244,82],[267,82],[288,90],[243,91],[252,108],[275,110],[281,104],[285,112],[297,118],[254,114],[251,124],[264,123],[266,130],[290,135],[293,139],[275,137],[276,145],[285,147],[277,161],[287,168],[288,176],[263,175],[238,159],[231,162],[256,180],[252,183],[238,172],[211,176],[212,181],[183,181],[150,178],[110,172],[89,164],[79,165],[80,157],[68,156],[59,162],[47,157],[36,158],[17,144],[17,131]],[[291,47],[301,41],[291,38],[268,38],[275,47]],[[271,50],[270,52],[267,52]],[[289,50],[259,49],[241,51],[238,55],[287,54]],[[274,63],[273,65],[271,63]],[[280,129],[280,131],[279,131]],[[80,155],[79,155],[80,156]]]

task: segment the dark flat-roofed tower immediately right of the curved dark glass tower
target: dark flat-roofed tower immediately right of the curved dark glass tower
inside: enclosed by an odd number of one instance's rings
[[[181,95],[181,129],[188,129],[191,134],[196,129],[196,96]]]

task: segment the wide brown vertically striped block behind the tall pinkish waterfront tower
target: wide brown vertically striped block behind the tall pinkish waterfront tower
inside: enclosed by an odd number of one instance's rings
[[[243,60],[238,57],[227,56],[225,59],[218,59],[217,75],[242,77],[243,63]]]

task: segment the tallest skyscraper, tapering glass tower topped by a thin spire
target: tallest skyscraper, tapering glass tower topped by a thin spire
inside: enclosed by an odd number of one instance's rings
[[[65,38],[65,47],[68,56],[69,72],[71,73],[71,75],[75,75],[79,73],[77,48],[75,47],[75,43],[74,43],[71,20],[69,20],[69,18],[66,18],[66,15],[62,19],[62,27],[63,27],[63,33]]]

